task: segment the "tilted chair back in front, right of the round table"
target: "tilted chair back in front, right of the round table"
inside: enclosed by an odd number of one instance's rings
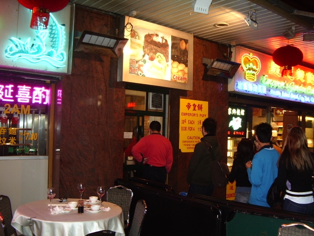
[[[146,211],[147,211],[146,202],[144,200],[138,200],[135,206],[129,236],[139,236],[141,234],[141,229]]]

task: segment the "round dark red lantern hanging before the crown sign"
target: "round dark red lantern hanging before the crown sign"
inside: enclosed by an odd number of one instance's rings
[[[287,45],[275,50],[273,60],[277,65],[285,67],[281,72],[281,76],[291,76],[292,66],[296,66],[302,62],[303,53],[300,49]]]

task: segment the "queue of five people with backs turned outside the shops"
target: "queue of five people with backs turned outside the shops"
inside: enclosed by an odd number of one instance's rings
[[[212,147],[216,160],[221,161],[223,157],[216,127],[213,118],[206,118],[202,123],[203,138],[195,145],[187,170],[188,194],[211,196],[213,193],[207,144]],[[165,183],[173,150],[170,141],[160,135],[160,129],[160,123],[152,121],[150,135],[141,138],[131,152],[138,162],[145,164],[143,178]],[[237,145],[228,176],[230,182],[236,181],[235,201],[269,207],[266,197],[275,182],[284,194],[283,209],[314,215],[314,154],[309,150],[302,128],[295,126],[288,131],[283,149],[272,145],[272,127],[268,123],[256,126],[254,138],[254,142],[243,138]]]

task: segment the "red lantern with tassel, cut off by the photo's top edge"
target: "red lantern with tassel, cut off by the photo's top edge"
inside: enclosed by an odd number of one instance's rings
[[[33,10],[30,28],[31,29],[47,29],[49,23],[50,12],[62,10],[70,0],[18,0],[21,5]]]

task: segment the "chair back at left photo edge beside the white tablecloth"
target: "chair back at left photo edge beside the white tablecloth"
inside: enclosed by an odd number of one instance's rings
[[[2,214],[2,218],[8,235],[14,234],[15,236],[17,236],[15,229],[13,228],[13,226],[11,226],[12,208],[10,198],[8,196],[0,195],[0,212]]]

